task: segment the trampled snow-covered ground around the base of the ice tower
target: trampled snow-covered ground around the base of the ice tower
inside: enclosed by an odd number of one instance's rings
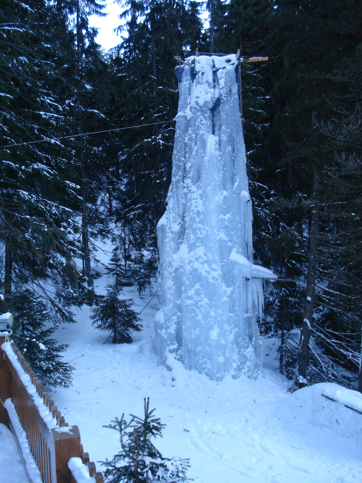
[[[102,279],[96,281],[98,293],[106,282]],[[140,310],[147,299],[127,290],[125,297],[133,297]],[[189,457],[188,476],[195,482],[361,481],[361,415],[328,406],[335,403],[322,398],[320,388],[289,395],[273,361],[265,363],[258,381],[218,384],[181,364],[172,373],[157,367],[155,306],[153,299],[142,313],[145,330],[131,345],[101,345],[108,334],[91,326],[88,307],[76,313],[77,324],[58,330],[57,339],[70,344],[66,360],[74,359],[76,370],[73,386],[57,389],[54,399],[66,421],[79,426],[84,451],[98,469],[98,460],[119,450],[117,433],[102,426],[123,412],[141,416],[143,398],[149,396],[167,424],[156,447],[165,456]],[[266,350],[267,361],[272,353]]]

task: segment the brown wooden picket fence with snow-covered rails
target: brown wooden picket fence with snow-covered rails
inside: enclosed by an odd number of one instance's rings
[[[103,483],[78,426],[64,421],[24,356],[0,337],[0,423],[11,429],[29,483]]]

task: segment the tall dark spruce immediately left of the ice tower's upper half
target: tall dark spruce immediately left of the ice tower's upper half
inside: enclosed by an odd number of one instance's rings
[[[114,133],[107,142],[108,158],[114,160],[110,196],[119,225],[116,243],[127,274],[135,276],[142,290],[156,275],[156,224],[165,209],[171,177],[174,125],[169,121],[177,114],[178,100],[173,56],[195,51],[202,25],[197,2],[124,4],[127,35],[111,52],[107,117],[114,127],[165,121]],[[142,256],[145,252],[148,255]]]

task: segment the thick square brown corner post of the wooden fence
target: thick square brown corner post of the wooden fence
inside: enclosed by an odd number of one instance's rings
[[[56,483],[70,483],[68,461],[82,457],[81,435],[78,426],[62,426],[52,429],[56,457]]]

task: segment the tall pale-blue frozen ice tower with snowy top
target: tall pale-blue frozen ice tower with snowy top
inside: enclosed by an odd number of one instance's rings
[[[157,225],[161,309],[157,356],[221,380],[261,370],[256,319],[262,278],[253,264],[251,199],[237,59],[191,57],[176,69],[179,108],[167,209]]]

